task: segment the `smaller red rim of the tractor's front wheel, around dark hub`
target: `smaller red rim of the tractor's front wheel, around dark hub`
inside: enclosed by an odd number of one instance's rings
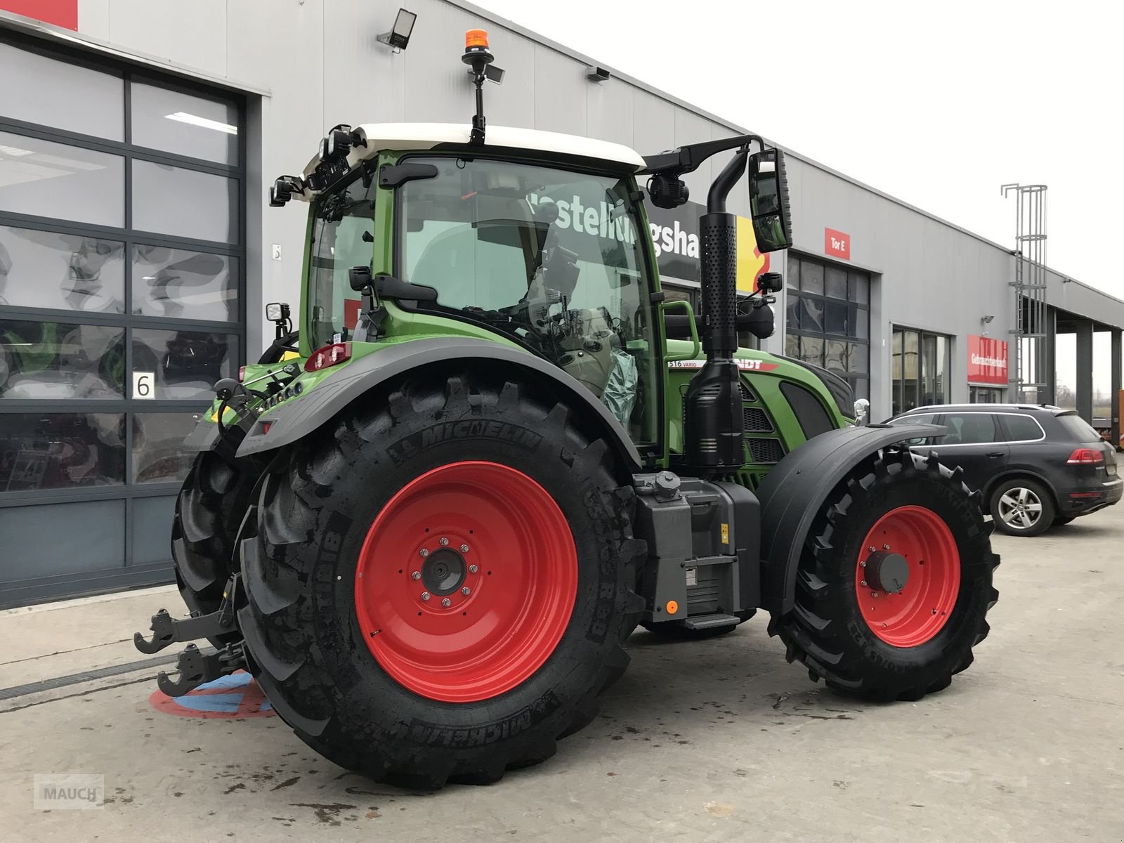
[[[878,551],[908,563],[908,579],[897,593],[867,581],[865,563]],[[879,638],[898,647],[930,641],[948,623],[960,592],[960,551],[949,525],[925,507],[891,509],[863,540],[854,584],[862,618]]]

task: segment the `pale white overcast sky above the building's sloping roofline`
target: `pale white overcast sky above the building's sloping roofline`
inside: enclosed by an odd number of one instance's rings
[[[1004,246],[1044,183],[1046,263],[1124,298],[1124,3],[475,2]]]

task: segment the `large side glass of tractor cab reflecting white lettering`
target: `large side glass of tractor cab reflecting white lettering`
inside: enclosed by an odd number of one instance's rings
[[[517,338],[655,441],[653,288],[631,178],[517,162],[411,157],[437,167],[398,191],[404,281]],[[654,405],[653,405],[654,407]]]

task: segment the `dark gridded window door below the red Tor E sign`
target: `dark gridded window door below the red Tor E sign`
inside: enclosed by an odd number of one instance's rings
[[[842,375],[870,398],[870,274],[788,259],[785,353]]]

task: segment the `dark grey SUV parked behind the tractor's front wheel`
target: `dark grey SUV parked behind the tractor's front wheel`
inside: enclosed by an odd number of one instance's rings
[[[960,465],[984,493],[996,528],[1036,536],[1121,499],[1115,448],[1073,410],[1014,404],[918,407],[889,424],[944,425],[943,436],[912,439],[914,451]]]

